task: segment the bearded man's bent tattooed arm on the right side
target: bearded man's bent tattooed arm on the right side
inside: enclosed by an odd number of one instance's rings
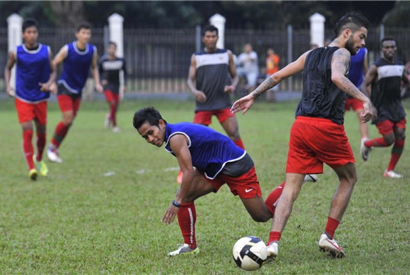
[[[340,48],[333,53],[331,61],[331,80],[342,91],[348,93],[352,97],[363,102],[364,112],[362,113],[362,120],[369,121],[375,116],[375,110],[367,97],[345,76],[349,69],[350,52],[345,48]]]

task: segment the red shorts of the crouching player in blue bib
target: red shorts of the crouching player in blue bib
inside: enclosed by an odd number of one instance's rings
[[[204,173],[202,173],[202,175],[208,183],[215,188],[215,192],[217,192],[219,188],[226,183],[228,184],[229,189],[231,189],[232,194],[239,196],[240,198],[250,199],[256,196],[262,196],[255,167],[252,167],[249,171],[239,177],[219,174],[215,179],[210,180],[205,177]]]

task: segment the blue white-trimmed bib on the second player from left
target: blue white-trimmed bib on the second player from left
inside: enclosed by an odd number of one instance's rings
[[[63,73],[58,84],[72,93],[81,93],[88,78],[92,57],[97,50],[94,45],[87,44],[85,50],[77,47],[77,42],[67,44],[67,56],[63,62]]]

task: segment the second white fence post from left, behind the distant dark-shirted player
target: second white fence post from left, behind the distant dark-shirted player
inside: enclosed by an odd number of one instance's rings
[[[124,17],[118,13],[113,13],[108,17],[110,29],[110,41],[117,44],[117,56],[124,57],[124,34],[123,34]],[[120,72],[120,98],[123,98],[124,92],[124,72]]]

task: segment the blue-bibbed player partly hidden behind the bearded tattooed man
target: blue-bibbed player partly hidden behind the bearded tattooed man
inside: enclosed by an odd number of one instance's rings
[[[350,57],[349,80],[358,88],[362,86],[364,76],[369,70],[368,66],[368,49],[362,47],[355,55]],[[368,139],[368,125],[361,121],[360,114],[364,111],[363,102],[346,93],[345,111],[353,109],[359,120],[359,130],[362,136],[362,142]]]

